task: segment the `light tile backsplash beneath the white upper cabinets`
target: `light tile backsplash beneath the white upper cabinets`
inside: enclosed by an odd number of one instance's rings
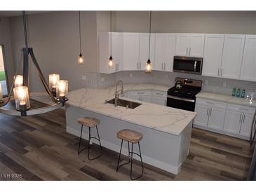
[[[182,77],[203,81],[202,90],[207,92],[231,95],[233,88],[240,88],[241,90],[245,89],[245,95],[252,95],[252,93],[256,95],[256,82],[198,76],[194,74],[180,74],[165,71],[152,71],[151,74],[147,74],[144,71],[120,71],[114,74],[86,73],[84,76],[86,76],[86,81],[83,81],[83,85],[89,88],[107,88],[114,85],[119,79],[125,84],[154,83],[173,87],[175,78]],[[103,78],[104,81],[102,81]]]

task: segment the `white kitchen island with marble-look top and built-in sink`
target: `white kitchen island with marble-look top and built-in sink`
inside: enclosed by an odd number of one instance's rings
[[[124,85],[123,89],[168,90],[164,86],[151,84]],[[135,109],[114,107],[114,104],[106,103],[106,100],[114,98],[114,90],[114,87],[82,88],[69,92],[66,106],[67,132],[79,137],[81,127],[77,119],[83,116],[98,118],[102,146],[119,152],[121,140],[116,137],[116,132],[125,128],[136,130],[143,134],[140,146],[144,163],[178,174],[189,153],[192,122],[196,113],[125,97],[121,98],[141,105]],[[88,139],[86,131],[88,130],[84,129],[82,135],[84,139]],[[122,153],[127,156],[128,144],[124,143],[123,147],[125,149]]]

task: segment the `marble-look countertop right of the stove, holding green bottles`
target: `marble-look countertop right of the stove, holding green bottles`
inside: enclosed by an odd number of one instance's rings
[[[199,92],[196,97],[219,102],[228,102],[231,104],[240,104],[248,107],[256,107],[256,100],[249,100],[247,98],[233,97],[229,95],[221,95],[213,92]]]

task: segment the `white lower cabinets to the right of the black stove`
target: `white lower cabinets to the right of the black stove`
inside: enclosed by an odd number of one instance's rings
[[[249,139],[255,108],[196,99],[194,127]]]

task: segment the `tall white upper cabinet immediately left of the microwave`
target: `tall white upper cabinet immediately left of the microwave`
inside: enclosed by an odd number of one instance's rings
[[[156,34],[155,39],[153,69],[158,71],[173,71],[175,34]]]

